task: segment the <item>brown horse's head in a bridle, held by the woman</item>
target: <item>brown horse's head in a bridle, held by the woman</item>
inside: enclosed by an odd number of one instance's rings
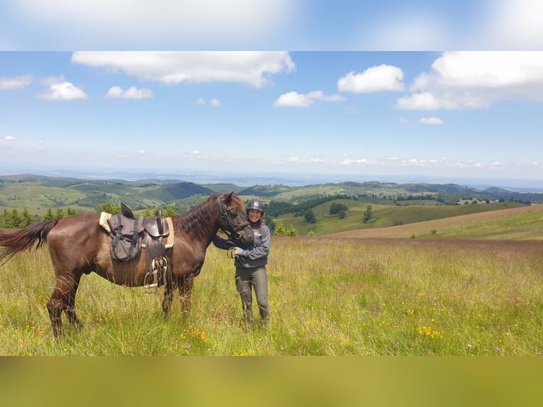
[[[217,197],[220,211],[220,228],[225,233],[233,233],[235,240],[242,244],[254,242],[252,227],[247,221],[244,204],[239,196],[234,194],[220,195]]]

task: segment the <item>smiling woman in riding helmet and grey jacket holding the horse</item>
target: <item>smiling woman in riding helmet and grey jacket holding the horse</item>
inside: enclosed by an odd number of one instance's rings
[[[219,236],[213,239],[213,245],[223,250],[231,250],[235,257],[235,285],[240,293],[243,314],[247,325],[252,325],[252,288],[257,297],[258,309],[262,323],[269,321],[268,276],[266,264],[270,248],[270,233],[267,225],[262,223],[264,204],[259,199],[247,202],[247,218],[254,232],[252,245],[239,246],[233,238],[225,240]]]

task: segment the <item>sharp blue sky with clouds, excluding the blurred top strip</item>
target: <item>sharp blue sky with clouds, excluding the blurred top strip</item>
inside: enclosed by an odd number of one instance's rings
[[[542,179],[543,52],[0,52],[0,171]]]

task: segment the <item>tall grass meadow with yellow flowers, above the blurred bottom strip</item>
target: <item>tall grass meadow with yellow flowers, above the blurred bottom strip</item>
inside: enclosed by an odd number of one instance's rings
[[[162,318],[162,289],[84,276],[84,325],[65,320],[57,342],[45,309],[55,283],[47,251],[24,253],[0,268],[0,355],[543,352],[540,242],[274,236],[268,274],[271,323],[249,329],[232,260],[215,247],[186,317],[175,298]]]

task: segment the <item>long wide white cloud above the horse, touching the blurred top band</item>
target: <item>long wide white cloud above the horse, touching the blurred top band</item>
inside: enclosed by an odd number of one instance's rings
[[[260,88],[271,75],[291,72],[289,52],[74,52],[72,62],[123,71],[145,81],[177,85],[237,82]]]

